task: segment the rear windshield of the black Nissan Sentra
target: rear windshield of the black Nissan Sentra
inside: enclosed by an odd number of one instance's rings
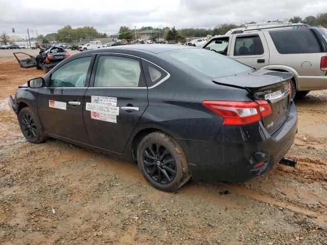
[[[175,50],[170,52],[169,56],[173,58],[173,62],[183,63],[211,78],[228,77],[251,71],[250,67],[240,62],[203,48]]]

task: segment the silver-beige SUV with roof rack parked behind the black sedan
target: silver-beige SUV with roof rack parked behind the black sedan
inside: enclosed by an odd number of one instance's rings
[[[327,89],[327,30],[322,27],[259,24],[232,29],[203,48],[257,69],[291,72],[293,98]]]

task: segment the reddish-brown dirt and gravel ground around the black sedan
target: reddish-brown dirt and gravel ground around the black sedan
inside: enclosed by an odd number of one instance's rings
[[[133,163],[55,139],[27,142],[7,97],[44,74],[12,53],[0,51],[1,244],[327,244],[327,90],[295,102],[287,157],[296,168],[165,193]]]

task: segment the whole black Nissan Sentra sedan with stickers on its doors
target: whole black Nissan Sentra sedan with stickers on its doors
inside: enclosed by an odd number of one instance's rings
[[[281,161],[297,131],[291,78],[192,46],[126,45],[65,59],[9,102],[28,141],[137,161],[153,186],[174,191],[191,177],[247,180]]]

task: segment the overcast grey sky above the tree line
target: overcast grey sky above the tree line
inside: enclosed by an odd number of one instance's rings
[[[327,0],[0,0],[0,33],[24,37],[27,28],[40,35],[94,26],[99,32],[117,33],[120,26],[209,28],[222,23],[288,20],[327,12]],[[32,36],[32,34],[30,34]]]

